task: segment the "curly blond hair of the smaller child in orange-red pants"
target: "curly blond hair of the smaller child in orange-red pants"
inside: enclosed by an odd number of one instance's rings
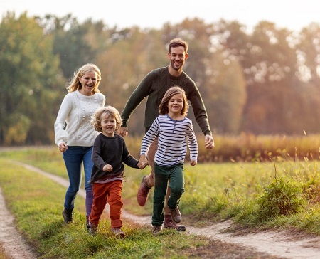
[[[97,108],[97,110],[95,111],[95,114],[91,117],[91,124],[93,125],[95,130],[97,132],[102,132],[101,119],[102,119],[102,115],[105,116],[104,113],[116,120],[115,130],[119,129],[119,127],[122,125],[121,115],[119,114],[119,111],[116,108],[108,105],[106,107]]]

